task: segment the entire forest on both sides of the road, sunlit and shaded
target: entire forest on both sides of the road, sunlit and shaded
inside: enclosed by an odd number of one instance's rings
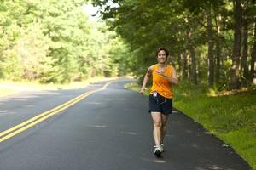
[[[255,0],[1,1],[0,78],[72,82],[142,78],[170,50],[180,80],[218,90],[255,84]]]

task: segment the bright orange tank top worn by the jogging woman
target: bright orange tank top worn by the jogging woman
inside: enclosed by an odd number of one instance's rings
[[[168,80],[165,77],[160,76],[156,71],[158,71],[158,64],[153,65],[153,71],[152,71],[153,84],[150,89],[150,94],[157,92],[158,94],[168,99],[172,99],[173,94],[172,94],[171,82],[168,82]],[[172,76],[172,65],[167,65],[165,74],[168,77]]]

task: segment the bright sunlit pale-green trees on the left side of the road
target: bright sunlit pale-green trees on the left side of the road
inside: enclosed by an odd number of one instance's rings
[[[89,20],[85,2],[1,3],[0,78],[65,83],[118,75],[125,43],[103,21]]]

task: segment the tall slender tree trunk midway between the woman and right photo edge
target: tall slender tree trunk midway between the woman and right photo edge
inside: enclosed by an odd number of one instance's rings
[[[213,59],[213,41],[212,41],[212,12],[211,5],[207,11],[207,43],[208,43],[208,84],[210,87],[214,84],[214,59]]]

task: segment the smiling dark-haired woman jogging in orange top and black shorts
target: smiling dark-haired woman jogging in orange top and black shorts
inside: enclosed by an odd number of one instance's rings
[[[148,68],[140,94],[144,93],[149,78],[153,77],[149,95],[149,112],[154,124],[154,155],[160,157],[164,151],[166,122],[172,113],[172,84],[177,85],[178,81],[174,67],[167,64],[169,53],[166,48],[159,48],[156,55],[158,64]]]

